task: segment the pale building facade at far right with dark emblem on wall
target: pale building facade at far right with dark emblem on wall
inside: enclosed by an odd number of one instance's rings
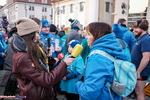
[[[129,29],[132,28],[132,23],[137,20],[147,19],[150,23],[150,13],[148,13],[150,12],[150,0],[145,1],[148,1],[145,11],[137,13],[136,10],[136,12],[130,13],[129,10],[131,9],[131,6],[133,6],[132,4],[130,5],[130,0],[115,0],[115,11],[113,13],[114,23],[117,23],[119,18],[124,18],[127,20],[127,26]],[[137,7],[140,6],[137,5]]]

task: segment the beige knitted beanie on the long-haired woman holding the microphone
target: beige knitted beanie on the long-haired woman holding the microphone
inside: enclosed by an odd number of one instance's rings
[[[32,19],[22,18],[16,22],[19,36],[24,36],[32,32],[39,31],[39,25]]]

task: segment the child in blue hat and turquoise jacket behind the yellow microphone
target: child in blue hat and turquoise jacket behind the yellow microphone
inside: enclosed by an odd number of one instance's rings
[[[80,44],[78,40],[72,40],[69,42],[68,54],[65,55],[67,57],[72,53],[73,48]],[[64,58],[65,58],[64,57]],[[79,100],[79,95],[75,90],[75,83],[79,80],[79,75],[84,72],[84,61],[79,55],[76,60],[72,63],[72,65],[67,67],[67,70],[70,72],[66,75],[60,83],[61,91],[65,91],[65,96],[67,100]]]

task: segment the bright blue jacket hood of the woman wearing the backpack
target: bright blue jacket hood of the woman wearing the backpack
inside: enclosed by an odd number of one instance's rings
[[[127,54],[123,53],[122,46],[120,45],[119,41],[116,39],[114,33],[104,35],[103,37],[94,41],[92,44],[92,49],[103,50],[109,53],[110,55],[122,60],[128,59]]]

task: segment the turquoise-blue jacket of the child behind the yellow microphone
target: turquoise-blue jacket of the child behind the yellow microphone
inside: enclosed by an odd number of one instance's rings
[[[66,54],[65,57],[67,57]],[[69,74],[66,75],[67,80],[62,80],[60,83],[61,91],[66,91],[67,93],[78,94],[75,90],[76,82],[81,78],[80,75],[84,72],[84,61],[79,55],[76,60],[67,67]]]

